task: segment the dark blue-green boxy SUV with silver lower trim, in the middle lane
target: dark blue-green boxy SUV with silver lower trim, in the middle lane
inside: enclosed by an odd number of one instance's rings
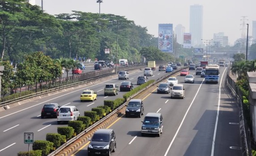
[[[157,134],[160,137],[163,132],[163,117],[161,113],[148,113],[141,123],[141,136]]]

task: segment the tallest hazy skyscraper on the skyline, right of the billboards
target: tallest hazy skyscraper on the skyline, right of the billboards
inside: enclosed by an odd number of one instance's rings
[[[191,44],[193,47],[200,47],[203,39],[203,6],[190,6],[189,31],[191,33]]]

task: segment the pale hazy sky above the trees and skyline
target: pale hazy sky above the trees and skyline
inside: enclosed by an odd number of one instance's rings
[[[99,12],[97,0],[43,0],[43,10],[51,15],[72,13],[72,11]],[[125,16],[136,25],[148,29],[148,33],[158,37],[158,24],[181,24],[189,32],[190,5],[200,4],[204,7],[203,39],[213,38],[213,33],[224,32],[229,43],[241,37],[242,16],[247,23],[249,36],[252,36],[252,21],[256,21],[256,0],[102,0],[100,12]],[[41,0],[36,0],[41,6]]]

